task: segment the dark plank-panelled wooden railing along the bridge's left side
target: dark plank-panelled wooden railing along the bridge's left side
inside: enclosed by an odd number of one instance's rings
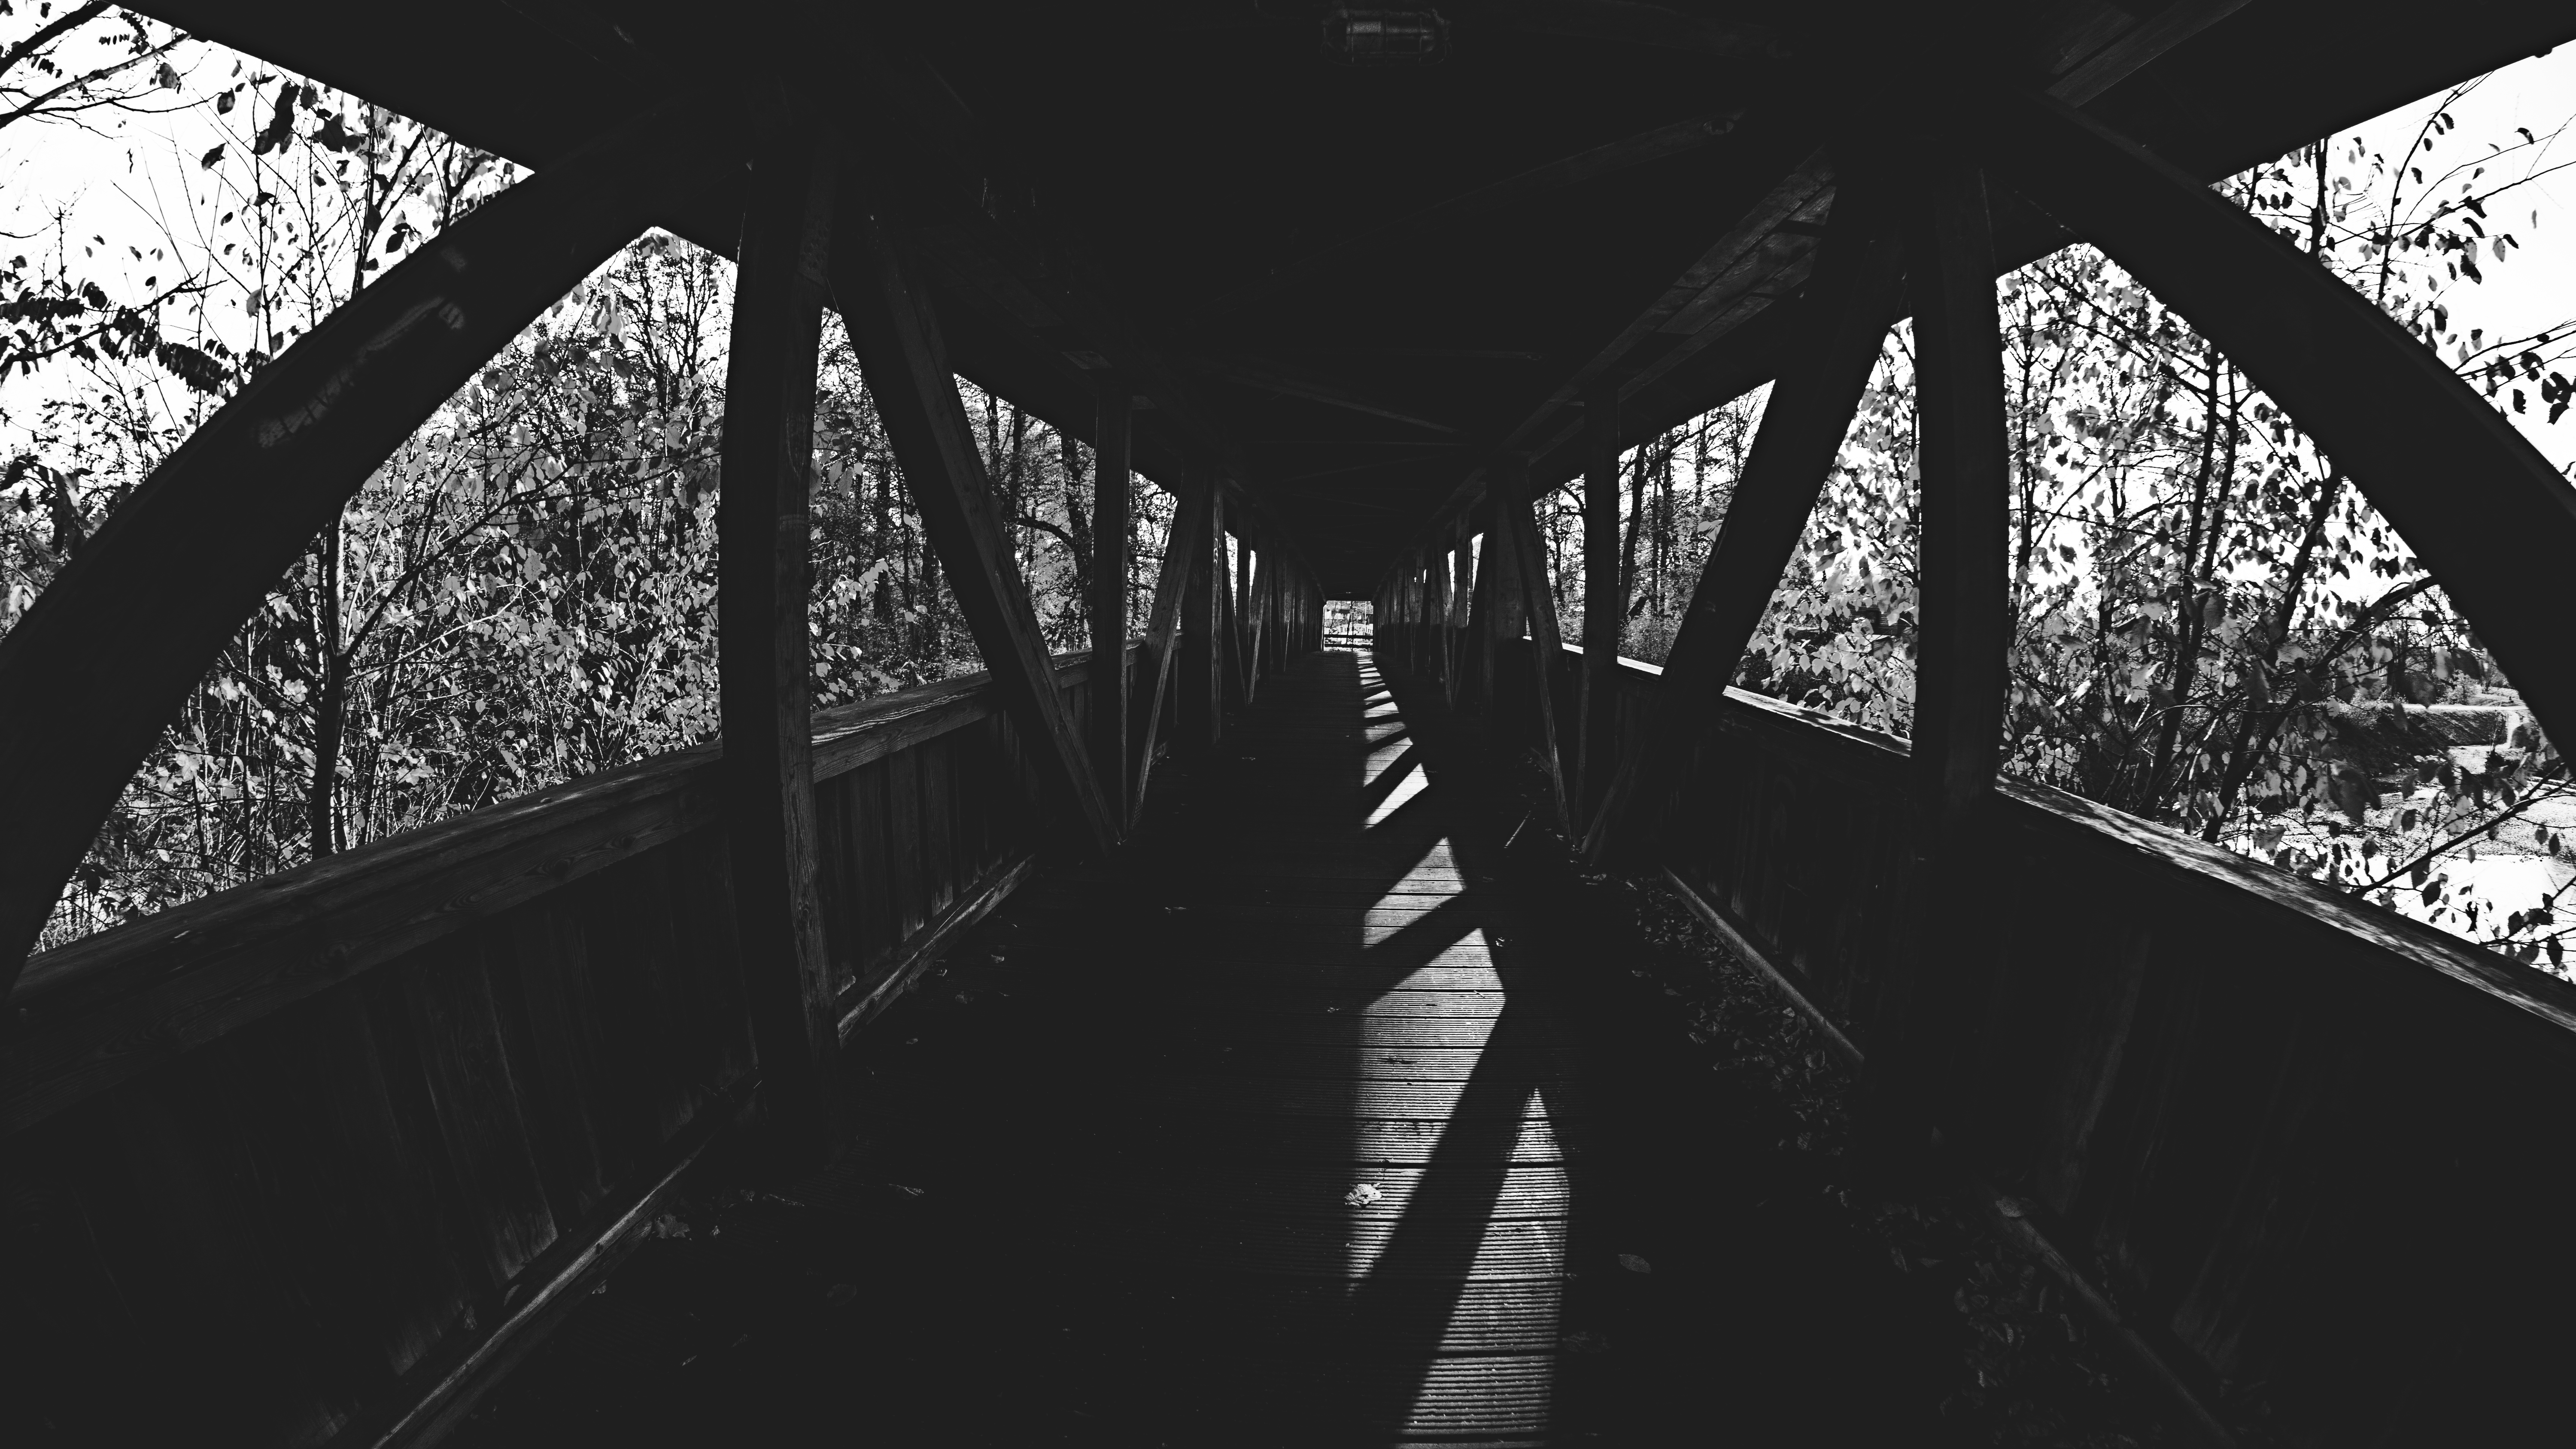
[[[1090,669],[1056,661],[1077,721]],[[0,1426],[376,1444],[461,1413],[755,1102],[714,767],[36,957],[0,1029]],[[814,780],[848,1035],[1030,872],[1033,775],[976,674],[819,713]]]

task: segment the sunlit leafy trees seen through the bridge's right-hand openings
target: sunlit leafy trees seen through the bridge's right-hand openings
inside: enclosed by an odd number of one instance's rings
[[[2519,247],[2501,221],[2512,193],[2555,170],[2540,162],[2555,134],[2452,136],[2450,108],[2476,85],[2437,103],[2396,162],[2326,139],[2221,190],[2496,407],[2555,422],[2576,322],[2488,337],[2450,319],[2455,288]],[[2439,170],[2437,152],[2473,154]],[[2396,530],[2293,417],[2092,247],[2002,278],[1996,306],[2012,486],[2007,770],[2558,968],[2576,788]],[[1739,399],[1631,453],[1628,654],[1669,649],[1662,620],[1680,587],[1664,569],[1695,577],[1705,543],[1690,533],[1716,528],[1677,528],[1656,479],[1690,456],[1690,502],[1721,510],[1752,425]],[[1739,685],[1906,734],[1917,479],[1901,324]],[[1582,597],[1574,507],[1569,486],[1543,517],[1564,605]]]

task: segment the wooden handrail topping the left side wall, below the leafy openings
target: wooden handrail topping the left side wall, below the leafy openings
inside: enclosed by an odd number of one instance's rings
[[[1131,641],[1128,649],[1141,649]],[[1056,685],[1090,651],[1056,656]],[[814,780],[999,713],[984,672],[814,713]],[[438,937],[716,818],[721,744],[484,806],[28,960],[0,1024],[0,1135]]]

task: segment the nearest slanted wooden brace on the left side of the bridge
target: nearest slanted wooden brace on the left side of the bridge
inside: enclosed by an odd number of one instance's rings
[[[984,458],[966,425],[948,350],[938,342],[930,296],[912,278],[884,224],[863,206],[842,206],[835,296],[850,324],[868,394],[886,422],[904,486],[922,510],[922,530],[948,571],[958,610],[1002,690],[1005,708],[1038,770],[1064,831],[1082,847],[1108,849],[1118,824],[1100,795],[1090,749],[1056,692],[1056,669],[1028,605],[1020,564],[994,517]]]

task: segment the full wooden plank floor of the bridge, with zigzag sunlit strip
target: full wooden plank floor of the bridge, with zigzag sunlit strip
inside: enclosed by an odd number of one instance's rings
[[[1435,723],[1265,682],[853,1042],[837,1166],[701,1192],[464,1441],[1935,1441],[1911,1284]]]

